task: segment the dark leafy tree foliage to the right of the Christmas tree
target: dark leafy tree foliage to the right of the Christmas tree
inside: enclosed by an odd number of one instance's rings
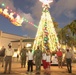
[[[76,20],[65,26],[60,30],[58,33],[59,39],[65,43],[67,43],[68,46],[71,46],[72,44],[76,45]]]

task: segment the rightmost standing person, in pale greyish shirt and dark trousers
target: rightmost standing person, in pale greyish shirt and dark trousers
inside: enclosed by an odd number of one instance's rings
[[[72,60],[73,60],[73,54],[72,52],[67,49],[67,52],[65,53],[65,59],[66,59],[66,64],[67,64],[67,69],[69,73],[72,73]]]

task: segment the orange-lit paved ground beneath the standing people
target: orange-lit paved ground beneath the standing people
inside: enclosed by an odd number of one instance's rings
[[[73,67],[73,72],[70,74],[67,72],[66,66],[63,68],[58,68],[58,66],[51,66],[50,72],[51,75],[76,75],[76,64],[72,65]],[[36,75],[35,74],[35,66],[34,66],[34,72],[26,74],[27,68],[21,68],[20,63],[13,63],[12,65],[12,72],[10,75]],[[8,74],[3,74],[4,72],[4,67],[1,67],[0,65],[0,75],[8,75]],[[41,67],[41,74],[44,75],[44,70],[43,67]]]

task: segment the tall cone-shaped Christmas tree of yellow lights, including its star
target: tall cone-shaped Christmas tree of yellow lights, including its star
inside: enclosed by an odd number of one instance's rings
[[[51,51],[55,51],[58,48],[59,42],[52,21],[52,17],[48,10],[48,8],[50,8],[49,3],[53,2],[53,0],[40,0],[40,1],[43,3],[42,5],[43,11],[39,27],[37,30],[37,34],[35,37],[33,50],[36,50],[37,46],[39,46],[41,50],[50,49]]]

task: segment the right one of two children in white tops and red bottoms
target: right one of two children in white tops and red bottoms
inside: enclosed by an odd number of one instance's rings
[[[47,51],[46,54],[46,75],[50,75],[51,54]]]

